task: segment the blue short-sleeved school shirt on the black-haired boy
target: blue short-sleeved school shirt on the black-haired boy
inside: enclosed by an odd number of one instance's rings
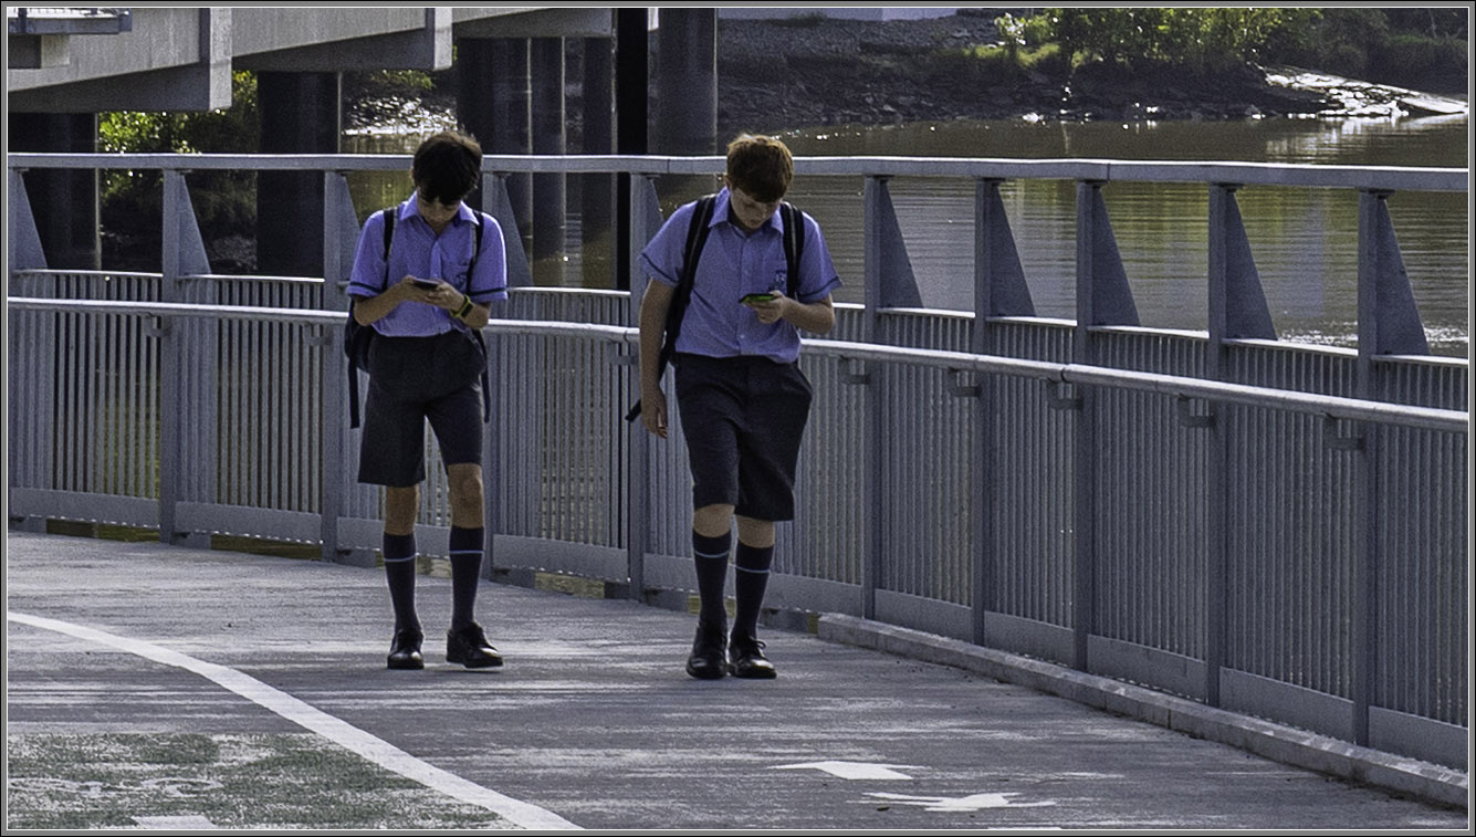
[[[406,275],[425,279],[441,279],[471,297],[472,303],[487,304],[508,298],[508,254],[502,239],[502,227],[489,216],[481,217],[481,252],[472,263],[472,247],[477,242],[475,218],[471,207],[461,204],[456,216],[435,235],[431,224],[415,208],[415,195],[396,210],[394,244],[390,247],[390,269],[384,263],[384,218],[379,213],[369,216],[359,249],[354,252],[354,269],[348,276],[348,294],[353,297],[378,297],[390,285]],[[471,264],[471,276],[466,267]],[[387,337],[432,337],[453,328],[462,328],[452,320],[446,309],[430,303],[401,303],[373,323]]]

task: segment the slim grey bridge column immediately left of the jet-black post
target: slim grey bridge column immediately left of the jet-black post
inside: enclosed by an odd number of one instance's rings
[[[615,89],[614,41],[584,38],[584,154],[614,151]],[[613,288],[614,267],[610,258],[610,221],[615,199],[615,179],[611,174],[584,174],[580,190],[580,261],[584,285]]]

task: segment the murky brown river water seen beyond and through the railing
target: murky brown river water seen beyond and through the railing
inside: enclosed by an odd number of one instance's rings
[[[791,131],[784,139],[799,156],[1470,165],[1466,115],[1137,124],[951,121],[825,127]],[[356,137],[353,145],[359,151],[375,146],[406,151],[400,143],[366,145],[365,137]],[[973,182],[897,177],[890,190],[922,304],[971,310]],[[1036,313],[1075,319],[1075,183],[1005,182],[1001,193]],[[1108,183],[1103,195],[1141,323],[1204,329],[1207,187]],[[692,196],[695,192],[685,199]],[[846,282],[837,300],[861,301],[861,179],[801,176],[790,198],[821,221]],[[1358,192],[1255,186],[1240,190],[1237,198],[1277,334],[1283,340],[1355,345]],[[676,199],[680,198],[672,198]],[[1389,198],[1415,304],[1435,354],[1469,356],[1469,193],[1396,192]],[[582,282],[577,260],[574,254],[564,283]]]

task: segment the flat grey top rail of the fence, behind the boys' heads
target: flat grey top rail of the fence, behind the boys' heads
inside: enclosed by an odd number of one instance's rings
[[[407,171],[412,156],[381,154],[7,154],[6,165],[25,168],[158,170],[311,170]],[[722,156],[661,155],[486,155],[494,173],[564,174],[714,174]],[[1015,159],[933,156],[797,156],[799,174],[869,177],[1046,179],[1145,183],[1234,183],[1241,186],[1320,186],[1370,190],[1467,192],[1469,168],[1401,165],[1324,165],[1305,162]]]

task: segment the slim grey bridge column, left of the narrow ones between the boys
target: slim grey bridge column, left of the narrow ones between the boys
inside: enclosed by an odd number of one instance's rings
[[[531,43],[533,154],[565,154],[564,38]],[[533,280],[564,283],[565,176],[533,176]]]

